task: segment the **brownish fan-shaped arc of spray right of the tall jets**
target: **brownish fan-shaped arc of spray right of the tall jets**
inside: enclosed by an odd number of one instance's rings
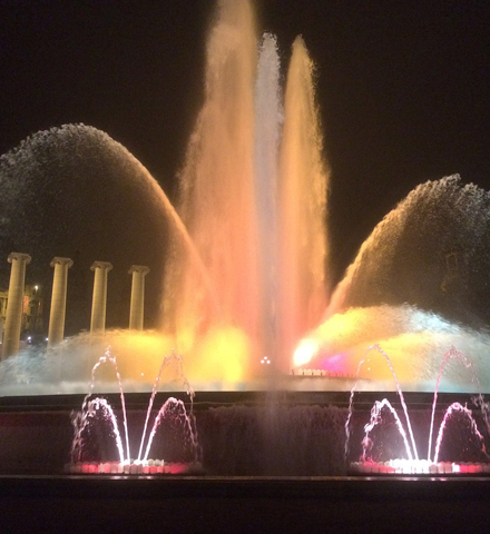
[[[473,327],[490,319],[490,196],[458,175],[416,187],[362,245],[327,315],[409,303]]]

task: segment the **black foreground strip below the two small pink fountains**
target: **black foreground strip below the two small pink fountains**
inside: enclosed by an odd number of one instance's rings
[[[488,532],[481,478],[0,477],[1,532]]]

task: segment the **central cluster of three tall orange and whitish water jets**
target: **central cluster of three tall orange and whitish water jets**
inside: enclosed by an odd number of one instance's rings
[[[166,327],[184,353],[208,332],[231,328],[243,335],[239,349],[246,345],[249,362],[268,355],[288,370],[295,344],[321,318],[327,170],[312,75],[298,38],[283,111],[275,37],[266,33],[257,55],[249,2],[219,3],[207,44],[206,99],[180,174],[178,208],[219,310],[209,306],[175,244]],[[229,345],[229,356],[236,349]]]

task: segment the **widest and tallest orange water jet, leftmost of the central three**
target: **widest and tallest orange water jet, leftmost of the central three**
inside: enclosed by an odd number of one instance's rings
[[[219,309],[212,306],[187,253],[175,243],[166,284],[166,326],[176,330],[184,353],[212,326],[238,326],[249,339],[257,339],[256,55],[251,4],[219,2],[218,22],[207,42],[205,103],[179,176],[178,206]]]

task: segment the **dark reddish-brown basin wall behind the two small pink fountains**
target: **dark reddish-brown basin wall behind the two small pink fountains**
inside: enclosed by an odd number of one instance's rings
[[[155,406],[170,394],[158,393]],[[374,402],[385,393],[357,393],[351,421],[347,456],[345,457],[345,421],[350,395],[346,392],[198,392],[194,403],[197,437],[200,446],[200,469],[192,463],[183,462],[178,454],[166,459],[166,464],[176,466],[186,464],[188,473],[199,476],[346,476],[353,471],[353,463],[360,462],[364,425],[370,421],[370,411]],[[176,395],[171,392],[171,396]],[[406,393],[414,437],[418,443],[427,443],[431,417],[432,395]],[[115,412],[120,416],[119,397],[106,395]],[[148,405],[148,394],[127,394],[127,412],[131,451],[137,451],[140,429]],[[399,407],[395,394],[389,394],[393,406]],[[82,395],[1,397],[0,398],[0,475],[66,475],[70,463],[70,447],[74,431],[70,413],[79,409]],[[187,402],[186,395],[180,398]],[[437,423],[442,419],[447,406],[454,400],[465,403],[469,396],[460,394],[439,395]],[[477,414],[478,415],[478,414]],[[120,421],[120,419],[119,419]],[[121,423],[119,423],[121,425]],[[173,451],[171,447],[163,449]],[[394,449],[395,451],[395,449]],[[178,452],[177,452],[178,453]],[[171,453],[174,454],[174,453]],[[155,456],[150,452],[149,457]],[[396,457],[378,462],[380,465]],[[104,471],[118,458],[85,458],[86,472]],[[467,462],[467,459],[469,462]],[[448,458],[441,458],[447,465]],[[89,462],[94,466],[89,469]],[[478,466],[480,458],[457,459],[459,473],[464,473],[467,463]],[[117,462],[118,464],[118,462]],[[366,463],[367,464],[367,463]],[[372,464],[372,463],[371,463]],[[144,473],[144,464],[133,471],[135,475]],[[100,467],[102,466],[102,467]],[[149,467],[149,465],[148,465]],[[373,469],[356,468],[357,475],[371,476]],[[107,468],[111,468],[110,466]],[[138,469],[141,473],[138,473]],[[122,473],[130,474],[131,467],[122,466]],[[125,473],[125,469],[128,473]],[[196,473],[197,469],[197,473]],[[478,469],[478,471],[477,471]],[[84,468],[81,468],[84,472]],[[161,469],[164,471],[164,469]],[[168,471],[168,468],[167,468]],[[383,471],[383,469],[378,469]],[[389,471],[389,469],[386,469]],[[419,469],[422,471],[422,469]],[[445,476],[443,469],[433,469],[429,474]],[[448,471],[448,469],[447,469]],[[455,471],[455,468],[453,469]],[[470,473],[472,468],[468,466]],[[374,474],[378,474],[374,469]],[[476,474],[486,474],[477,467]],[[405,474],[409,474],[404,472]],[[108,474],[108,473],[107,473]],[[403,474],[393,473],[393,475]],[[415,474],[415,469],[410,471]],[[392,476],[393,476],[392,475]],[[101,476],[101,475],[100,475]],[[166,476],[169,476],[168,474]]]

